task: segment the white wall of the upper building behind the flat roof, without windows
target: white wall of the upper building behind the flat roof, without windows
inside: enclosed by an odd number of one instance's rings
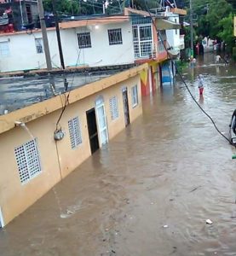
[[[107,29],[121,28],[123,44],[109,45]],[[78,49],[78,32],[90,32],[91,48]],[[130,22],[86,26],[60,30],[61,44],[66,67],[112,66],[134,63],[132,26]],[[0,42],[9,42],[9,55],[0,56],[0,72],[46,68],[44,52],[38,54],[35,38],[41,32],[0,35]],[[60,57],[55,30],[48,31],[49,49],[53,67],[60,67]]]

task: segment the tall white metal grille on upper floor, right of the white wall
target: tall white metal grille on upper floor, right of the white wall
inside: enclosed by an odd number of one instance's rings
[[[134,25],[133,40],[135,58],[147,58],[153,55],[153,33],[151,25]]]

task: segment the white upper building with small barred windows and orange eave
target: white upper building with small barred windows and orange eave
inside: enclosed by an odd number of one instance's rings
[[[54,28],[48,29],[53,67],[60,67]],[[134,63],[132,25],[128,17],[60,23],[66,67],[101,67]],[[40,30],[0,34],[0,72],[46,68]]]

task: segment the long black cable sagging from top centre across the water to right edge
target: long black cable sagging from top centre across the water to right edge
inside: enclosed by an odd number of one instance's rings
[[[155,24],[155,22],[154,22],[154,20],[153,20],[153,18],[152,18],[152,14],[150,13],[150,10],[148,9],[147,0],[144,0],[144,2],[145,2],[145,5],[146,5],[147,12],[148,12],[150,18],[152,19],[153,26],[155,27],[156,32],[158,32],[158,28],[157,28],[157,26],[156,26],[156,24]],[[235,145],[233,145],[233,143],[232,143],[225,135],[223,135],[222,132],[218,129],[218,127],[217,127],[215,121],[211,118],[210,114],[209,114],[209,113],[206,113],[206,112],[204,111],[204,108],[202,108],[202,107],[199,105],[199,102],[197,102],[197,100],[194,98],[194,96],[193,96],[191,90],[188,88],[188,86],[187,86],[185,80],[183,79],[183,77],[182,77],[182,75],[181,75],[181,73],[180,73],[178,67],[176,66],[176,62],[172,60],[172,58],[171,58],[171,56],[170,56],[170,53],[168,52],[168,49],[166,48],[166,46],[165,46],[165,44],[164,44],[164,40],[163,40],[163,38],[161,37],[160,33],[158,33],[158,37],[161,39],[161,42],[162,42],[162,44],[164,45],[164,49],[165,49],[167,55],[169,56],[170,61],[171,61],[171,62],[174,64],[174,66],[176,67],[176,71],[177,71],[178,75],[180,76],[182,83],[185,85],[185,87],[186,87],[186,89],[187,89],[189,95],[193,98],[193,102],[195,102],[195,103],[197,104],[197,106],[201,109],[201,111],[210,119],[211,123],[212,123],[212,124],[214,125],[214,127],[216,128],[216,131],[217,131],[222,137],[224,137],[224,138],[227,140],[228,143],[230,143],[232,146],[235,147]]]

